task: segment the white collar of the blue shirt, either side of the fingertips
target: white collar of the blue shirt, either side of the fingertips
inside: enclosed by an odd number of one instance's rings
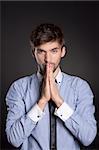
[[[40,74],[39,71],[37,71],[37,77],[39,79],[39,81],[41,82],[42,81],[42,75]],[[59,70],[57,76],[56,76],[56,82],[60,85],[61,81],[62,81],[62,72],[61,72],[61,69]]]

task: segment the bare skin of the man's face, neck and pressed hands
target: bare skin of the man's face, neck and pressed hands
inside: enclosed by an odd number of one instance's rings
[[[60,107],[63,99],[55,83],[55,77],[60,70],[61,58],[65,55],[65,47],[62,49],[57,41],[48,42],[35,47],[33,56],[38,64],[38,70],[43,75],[42,93],[38,106],[43,111],[48,101],[53,100],[56,107]]]

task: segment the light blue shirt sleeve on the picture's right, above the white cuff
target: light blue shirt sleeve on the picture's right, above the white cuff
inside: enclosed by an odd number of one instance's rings
[[[97,122],[94,117],[95,106],[93,105],[94,95],[86,81],[80,78],[76,79],[71,87],[72,93],[75,95],[74,113],[64,121],[64,125],[84,146],[88,146],[95,139],[97,133]],[[72,96],[71,94],[69,101]]]

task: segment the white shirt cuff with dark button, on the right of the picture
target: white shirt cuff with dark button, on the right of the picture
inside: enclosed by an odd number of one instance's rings
[[[66,121],[73,114],[73,112],[73,109],[71,109],[69,105],[64,102],[59,108],[55,108],[54,114],[63,121]]]

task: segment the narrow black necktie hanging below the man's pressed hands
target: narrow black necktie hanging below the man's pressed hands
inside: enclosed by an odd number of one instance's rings
[[[54,115],[55,107],[55,103],[50,100],[50,150],[56,150],[56,116]]]

